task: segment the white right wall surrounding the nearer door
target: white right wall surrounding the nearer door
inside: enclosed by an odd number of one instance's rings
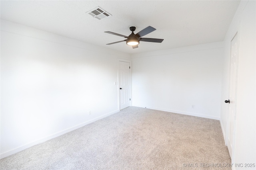
[[[256,3],[241,1],[224,40],[224,70],[222,78],[222,106],[220,123],[224,138],[226,138],[226,121],[228,99],[230,42],[236,32],[240,40],[238,63],[238,90],[236,106],[236,134],[234,143],[234,158],[232,162],[243,164],[256,163]]]

